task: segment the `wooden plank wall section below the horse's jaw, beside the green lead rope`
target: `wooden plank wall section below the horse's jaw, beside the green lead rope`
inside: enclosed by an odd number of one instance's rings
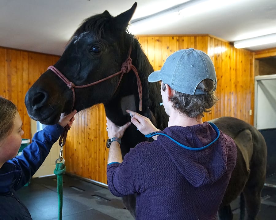
[[[102,104],[77,113],[64,147],[67,172],[107,184],[108,136],[105,128]]]

